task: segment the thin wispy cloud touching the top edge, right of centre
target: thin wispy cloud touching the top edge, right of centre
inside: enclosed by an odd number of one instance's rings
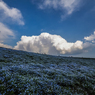
[[[72,14],[79,6],[81,0],[41,0],[39,4],[40,9],[53,8],[55,10],[62,10],[65,12],[65,17]]]

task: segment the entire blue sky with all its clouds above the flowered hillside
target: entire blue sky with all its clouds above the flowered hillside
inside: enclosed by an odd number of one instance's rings
[[[0,0],[0,47],[95,58],[95,0]]]

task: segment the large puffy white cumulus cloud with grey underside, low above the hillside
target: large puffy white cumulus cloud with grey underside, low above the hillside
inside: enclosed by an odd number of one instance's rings
[[[86,52],[91,46],[79,40],[71,43],[59,35],[41,33],[39,36],[22,36],[14,49],[46,54],[78,54]]]

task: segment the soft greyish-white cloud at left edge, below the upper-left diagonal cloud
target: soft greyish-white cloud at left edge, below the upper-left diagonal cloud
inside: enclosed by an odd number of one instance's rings
[[[11,29],[9,29],[6,25],[3,23],[0,23],[0,41],[3,41],[7,38],[14,38],[14,33]]]

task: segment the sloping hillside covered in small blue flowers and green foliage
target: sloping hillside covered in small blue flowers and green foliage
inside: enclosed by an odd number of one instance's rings
[[[0,95],[95,95],[95,59],[0,48]]]

